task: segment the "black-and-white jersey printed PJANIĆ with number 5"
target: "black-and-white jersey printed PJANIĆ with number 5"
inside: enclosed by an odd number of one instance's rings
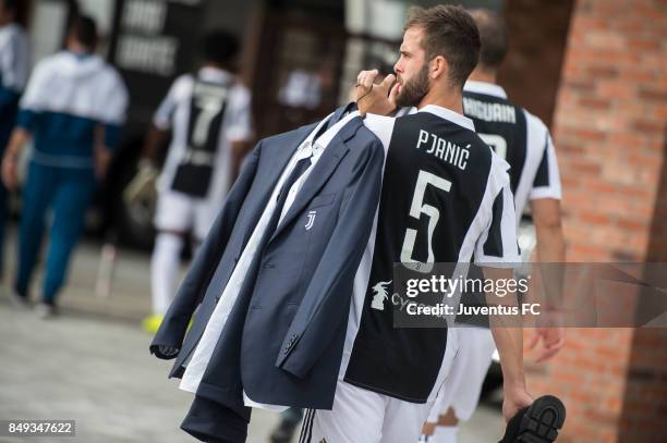
[[[519,261],[508,164],[470,119],[437,106],[367,115],[387,151],[376,222],[354,282],[341,378],[414,403],[444,373],[447,329],[396,329],[396,262]],[[400,297],[400,295],[399,295]]]

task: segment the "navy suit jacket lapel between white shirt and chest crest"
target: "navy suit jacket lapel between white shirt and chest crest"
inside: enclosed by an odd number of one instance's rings
[[[327,180],[329,180],[329,176],[331,176],[336,170],[336,167],[338,167],[338,163],[349,150],[345,141],[356,133],[356,130],[359,130],[361,125],[362,123],[360,118],[352,119],[338,132],[338,134],[336,134],[336,136],[333,136],[329,145],[322,153],[317,164],[315,164],[315,168],[313,171],[311,171],[305,183],[299,190],[299,194],[296,194],[294,202],[284,214],[284,218],[278,227],[276,227],[269,243],[282,232],[284,226],[289,225],[292,220],[294,220],[294,218],[296,218],[303,211],[313,197],[317,195],[324,184],[327,183]],[[278,208],[278,210],[280,210],[280,208]]]

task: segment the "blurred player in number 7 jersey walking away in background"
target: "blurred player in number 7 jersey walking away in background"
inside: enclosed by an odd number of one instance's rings
[[[178,77],[156,111],[140,172],[130,184],[137,197],[154,188],[150,177],[158,151],[171,130],[158,181],[158,233],[150,262],[153,315],[144,319],[148,332],[157,331],[174,296],[185,235],[192,231],[195,248],[202,243],[253,136],[251,93],[232,74],[237,38],[216,30],[204,37],[202,48],[203,66],[194,75]]]

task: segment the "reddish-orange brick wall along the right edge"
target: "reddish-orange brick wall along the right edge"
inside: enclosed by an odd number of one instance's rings
[[[570,261],[667,261],[667,2],[578,0],[553,132]],[[580,329],[536,393],[561,395],[560,442],[662,442],[665,330]]]

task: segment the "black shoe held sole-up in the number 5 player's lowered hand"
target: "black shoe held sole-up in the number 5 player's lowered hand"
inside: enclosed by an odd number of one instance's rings
[[[550,443],[562,428],[566,409],[562,402],[545,395],[512,417],[499,443]]]

